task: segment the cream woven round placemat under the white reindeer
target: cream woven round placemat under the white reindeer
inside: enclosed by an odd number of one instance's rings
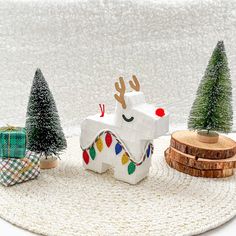
[[[81,166],[79,138],[54,170],[38,180],[0,187],[0,216],[30,231],[55,236],[193,235],[236,215],[236,177],[203,179],[168,167],[155,143],[149,177],[136,186]]]

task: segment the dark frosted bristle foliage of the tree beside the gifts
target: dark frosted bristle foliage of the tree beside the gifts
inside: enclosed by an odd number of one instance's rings
[[[35,72],[26,117],[27,149],[44,155],[59,155],[66,148],[56,104],[40,69]]]

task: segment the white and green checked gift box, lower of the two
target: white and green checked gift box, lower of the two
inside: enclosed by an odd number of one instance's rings
[[[4,186],[34,179],[39,173],[39,158],[35,153],[28,152],[22,159],[0,159],[0,183]]]

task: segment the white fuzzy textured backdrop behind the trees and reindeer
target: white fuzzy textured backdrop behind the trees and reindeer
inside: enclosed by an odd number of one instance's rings
[[[224,40],[236,110],[235,0],[0,0],[0,123],[23,125],[37,67],[62,124],[78,126],[114,82],[135,73],[149,102],[185,125],[198,83]]]

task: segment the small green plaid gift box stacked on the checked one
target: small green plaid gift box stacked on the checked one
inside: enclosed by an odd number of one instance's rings
[[[24,158],[25,150],[25,128],[14,126],[0,128],[0,158]]]

